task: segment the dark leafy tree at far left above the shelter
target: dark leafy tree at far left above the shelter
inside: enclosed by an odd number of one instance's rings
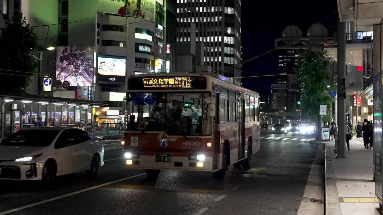
[[[38,61],[38,37],[21,13],[7,20],[0,33],[0,92],[27,93]]]

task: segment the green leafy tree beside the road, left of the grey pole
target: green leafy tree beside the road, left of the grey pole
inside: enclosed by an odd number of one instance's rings
[[[335,90],[336,85],[330,83],[329,65],[332,60],[326,57],[326,51],[305,49],[300,52],[296,77],[300,87],[300,102],[303,113],[313,120],[318,120],[319,105],[327,105],[327,115],[330,105],[334,101],[328,94]],[[329,116],[324,116],[324,121],[329,121]]]

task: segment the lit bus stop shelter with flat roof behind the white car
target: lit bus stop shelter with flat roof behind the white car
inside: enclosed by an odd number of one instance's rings
[[[58,98],[34,94],[0,93],[0,138],[7,138],[25,127],[43,125],[79,127],[92,131],[94,108],[107,106],[102,101]]]

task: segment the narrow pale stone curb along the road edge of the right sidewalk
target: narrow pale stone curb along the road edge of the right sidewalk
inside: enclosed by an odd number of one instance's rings
[[[332,167],[332,157],[330,155],[330,145],[326,143],[324,163],[324,215],[340,215],[340,204],[338,198],[338,191],[336,187],[336,179],[334,168]]]

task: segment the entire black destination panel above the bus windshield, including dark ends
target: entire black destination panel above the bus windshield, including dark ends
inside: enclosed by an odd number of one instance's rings
[[[129,90],[206,89],[205,77],[137,77],[128,79]]]

